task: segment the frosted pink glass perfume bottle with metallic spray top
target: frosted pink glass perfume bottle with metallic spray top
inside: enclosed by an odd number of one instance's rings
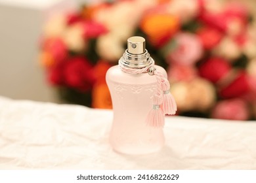
[[[145,49],[145,39],[130,37],[119,64],[140,69],[152,62],[153,59]],[[154,67],[167,77],[162,67]],[[147,154],[160,150],[165,141],[163,129],[145,122],[156,92],[156,77],[148,73],[128,74],[116,65],[106,73],[106,82],[114,110],[110,131],[110,144],[114,150],[123,154]]]

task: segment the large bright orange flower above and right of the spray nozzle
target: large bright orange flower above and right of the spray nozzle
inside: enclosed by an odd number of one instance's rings
[[[179,20],[171,14],[148,14],[140,23],[152,43],[165,42],[179,29]]]

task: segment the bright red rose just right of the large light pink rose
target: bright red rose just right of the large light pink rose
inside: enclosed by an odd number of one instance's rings
[[[198,37],[202,42],[203,48],[211,50],[221,41],[223,34],[217,29],[204,27],[198,31]]]

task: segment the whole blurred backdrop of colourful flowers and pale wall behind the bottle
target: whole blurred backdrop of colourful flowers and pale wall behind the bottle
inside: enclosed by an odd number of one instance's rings
[[[178,115],[256,118],[256,1],[0,1],[0,95],[112,108],[105,82],[146,38]]]

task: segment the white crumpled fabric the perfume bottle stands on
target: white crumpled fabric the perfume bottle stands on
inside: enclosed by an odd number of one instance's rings
[[[117,154],[112,110],[0,97],[0,169],[256,169],[256,122],[165,118],[156,154]]]

